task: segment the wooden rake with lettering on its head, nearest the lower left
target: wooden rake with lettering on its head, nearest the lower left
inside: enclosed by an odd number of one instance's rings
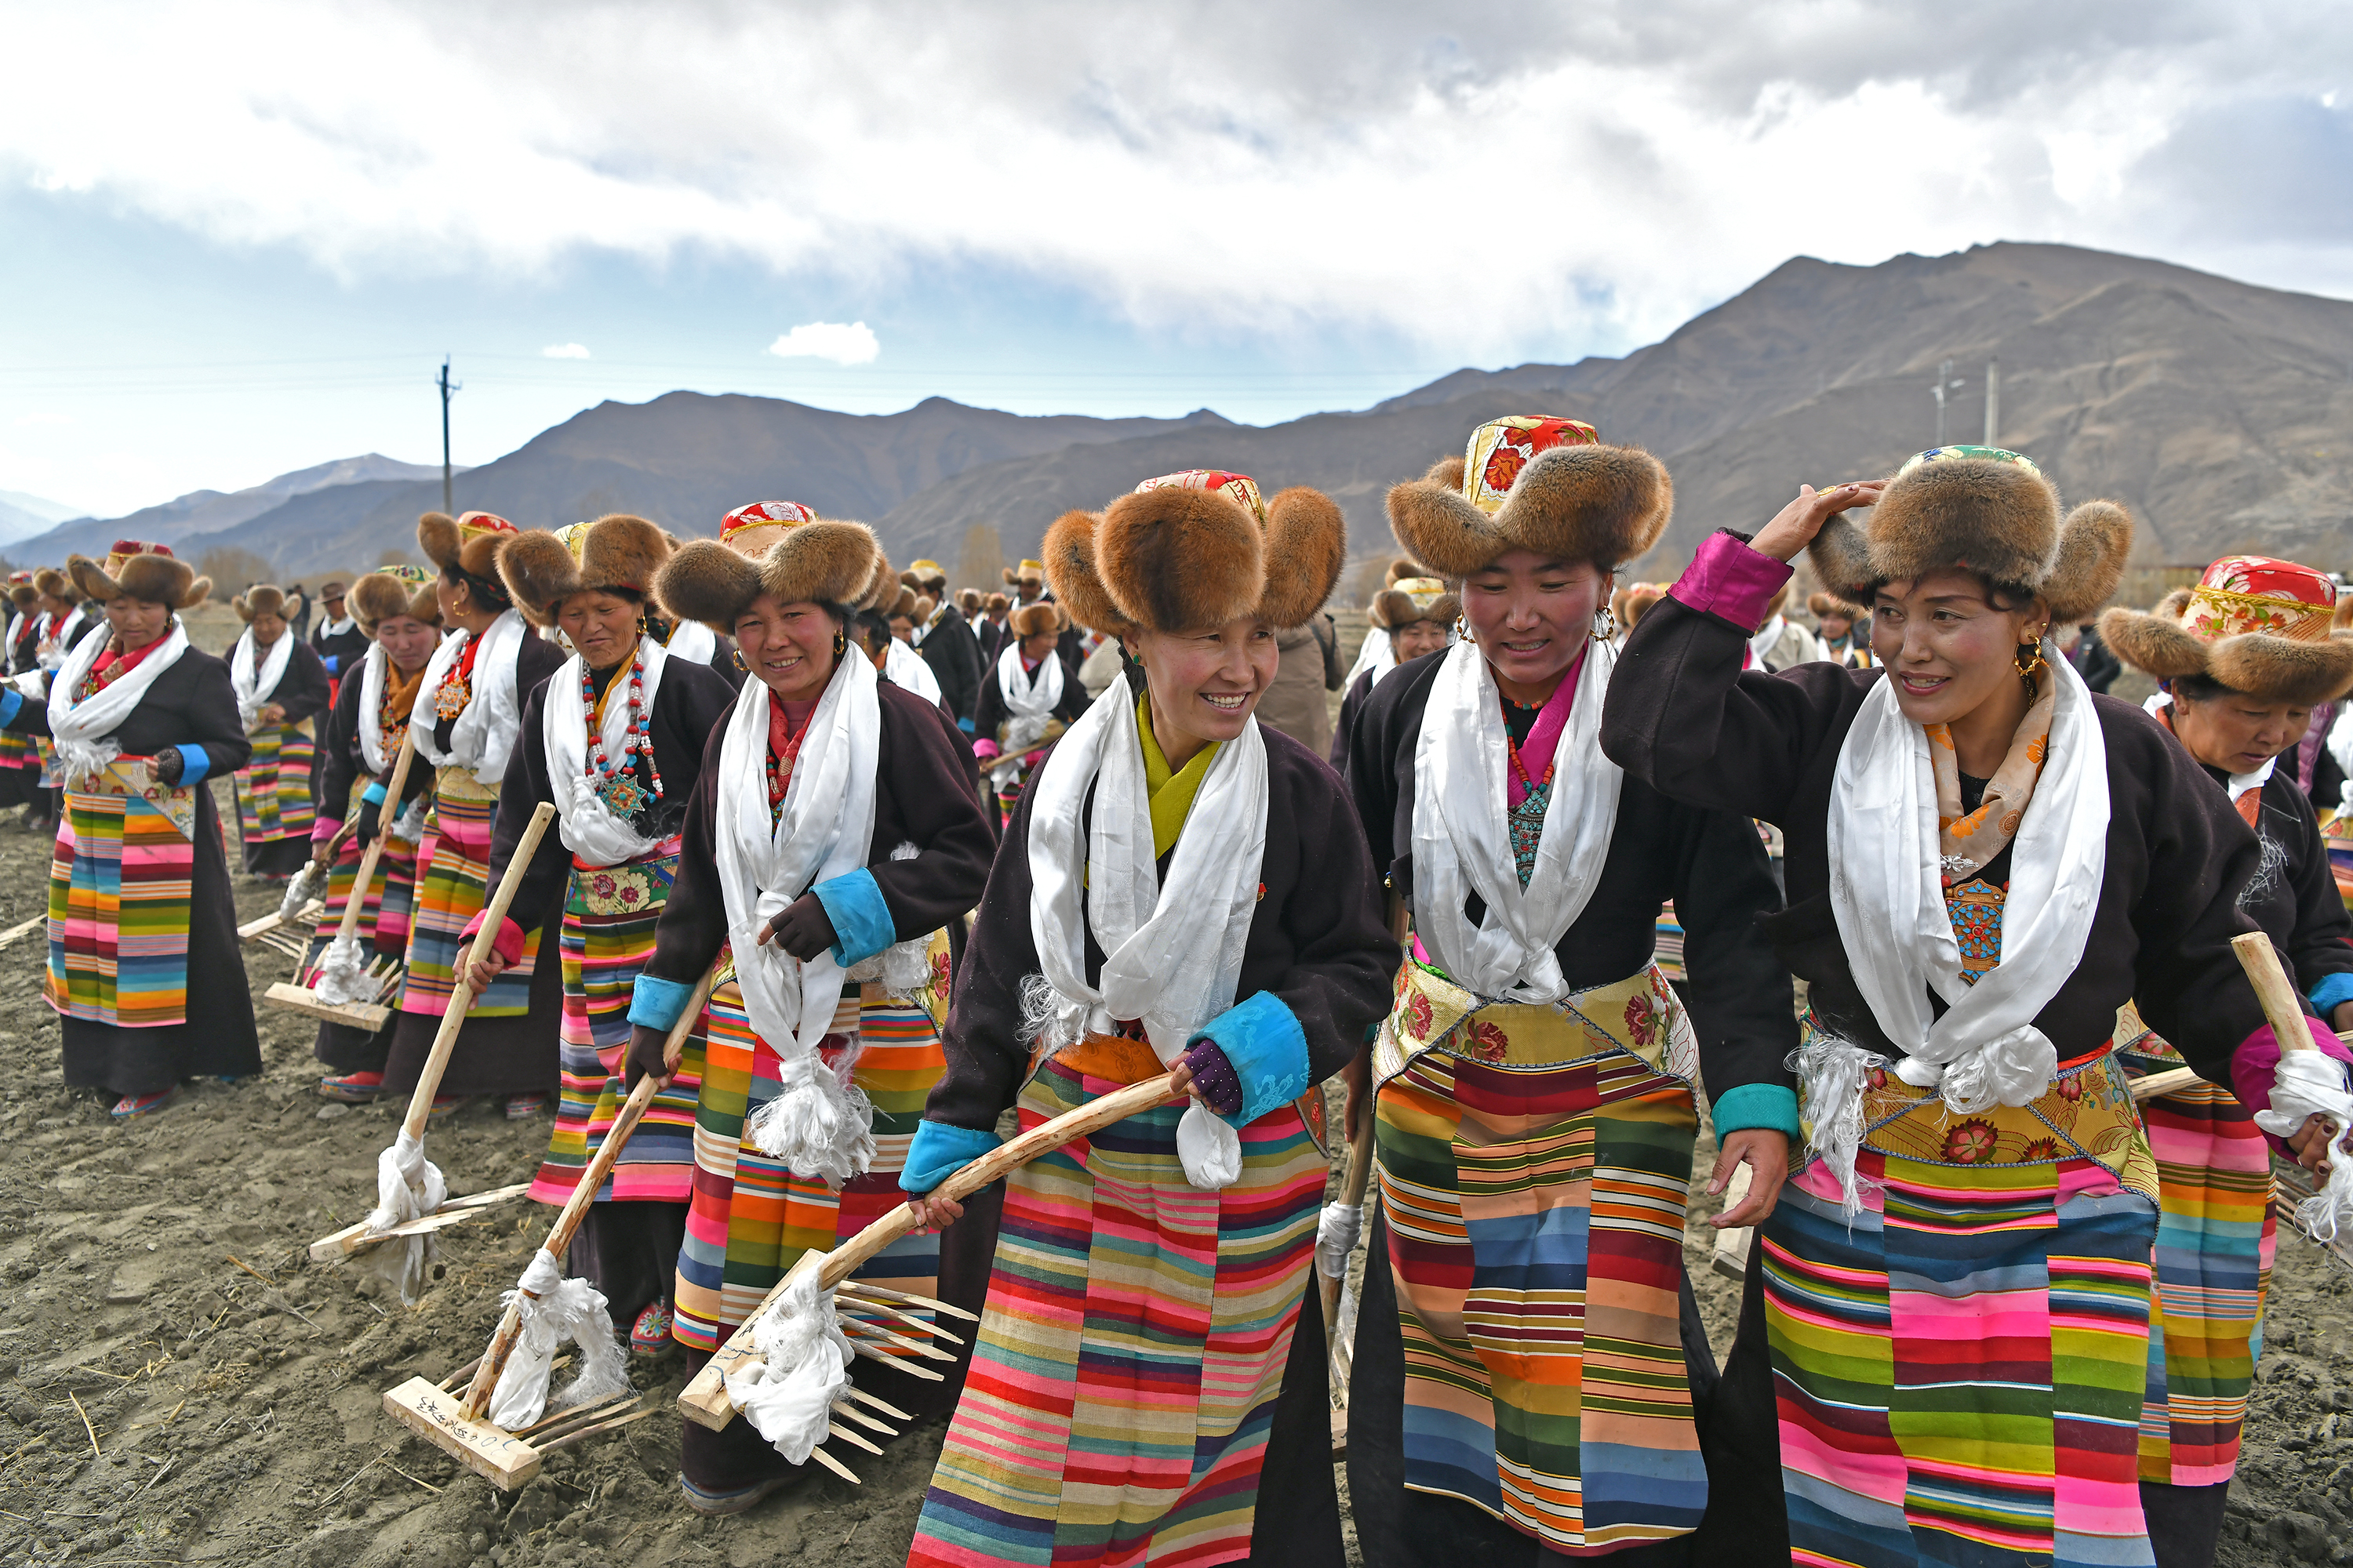
[[[713,971],[706,973],[694,987],[694,994],[687,999],[678,1023],[671,1025],[671,1039],[664,1046],[664,1065],[671,1072],[678,1070],[678,1058],[685,1051],[687,1034],[694,1030],[694,1020],[701,1018],[704,1001],[711,997],[711,983],[715,978],[718,969],[713,966]],[[598,1187],[602,1187],[605,1178],[612,1175],[612,1166],[621,1159],[628,1135],[638,1131],[638,1121],[645,1119],[645,1112],[659,1091],[661,1081],[654,1074],[638,1079],[638,1086],[628,1091],[626,1100],[621,1100],[621,1110],[612,1121],[612,1131],[605,1133],[605,1143],[598,1145],[595,1159],[588,1161],[579,1182],[572,1185],[572,1197],[565,1199],[562,1213],[558,1213],[555,1225],[548,1227],[548,1239],[539,1244],[539,1251],[558,1265],[562,1265],[565,1253],[572,1251],[572,1237],[579,1232],[581,1220],[588,1218],[588,1206],[595,1201]],[[522,1300],[527,1295],[529,1291],[515,1291],[515,1300],[499,1319],[496,1333],[489,1335],[489,1349],[485,1349],[482,1356],[468,1368],[471,1382],[461,1396],[454,1394],[454,1387],[456,1380],[468,1373],[456,1373],[447,1382],[409,1378],[398,1389],[388,1389],[384,1394],[384,1410],[393,1420],[409,1427],[459,1465],[504,1490],[515,1490],[536,1476],[541,1460],[558,1448],[569,1448],[572,1443],[595,1436],[598,1432],[626,1427],[628,1422],[645,1420],[654,1413],[647,1408],[624,1415],[628,1406],[638,1403],[638,1394],[631,1389],[628,1394],[614,1394],[612,1399],[593,1406],[558,1410],[515,1432],[506,1432],[489,1420],[489,1396],[499,1387],[499,1373],[506,1371],[506,1363],[515,1352],[515,1340],[522,1338]]]

